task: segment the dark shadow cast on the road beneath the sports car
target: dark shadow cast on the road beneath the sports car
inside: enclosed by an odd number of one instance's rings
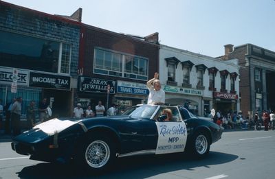
[[[195,170],[196,167],[211,168],[211,165],[229,163],[238,156],[221,152],[210,152],[202,159],[195,160],[184,154],[165,154],[159,156],[134,156],[119,158],[111,171],[92,178],[147,178],[178,170]],[[74,165],[39,163],[25,167],[18,173],[19,178],[91,178],[89,174]]]

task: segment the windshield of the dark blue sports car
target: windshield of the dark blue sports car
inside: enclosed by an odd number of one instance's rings
[[[157,106],[133,106],[131,108],[127,108],[122,115],[129,115],[133,118],[151,118],[152,115],[155,113],[155,110],[157,109]]]

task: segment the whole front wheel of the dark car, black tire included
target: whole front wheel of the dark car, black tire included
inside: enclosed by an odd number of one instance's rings
[[[78,163],[93,173],[109,169],[115,160],[113,141],[107,136],[100,135],[88,139],[77,154]]]

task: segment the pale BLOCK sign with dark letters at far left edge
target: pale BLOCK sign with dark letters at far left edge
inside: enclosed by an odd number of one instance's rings
[[[20,86],[28,86],[29,72],[18,70],[17,73],[14,73],[14,69],[4,69],[0,68],[0,83],[1,84],[10,84],[16,82]]]

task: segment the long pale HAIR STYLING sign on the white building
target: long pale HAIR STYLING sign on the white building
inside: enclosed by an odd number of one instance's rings
[[[184,94],[184,95],[197,95],[197,96],[203,95],[202,90],[197,90],[197,89],[192,89],[192,88],[179,88],[177,86],[164,85],[163,89],[165,92],[168,92],[168,93],[177,93],[177,94]]]

